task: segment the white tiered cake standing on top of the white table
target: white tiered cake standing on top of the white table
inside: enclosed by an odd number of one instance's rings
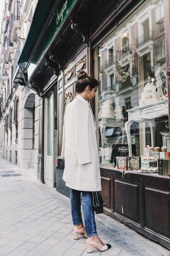
[[[159,101],[158,93],[156,92],[156,87],[152,83],[147,83],[142,92],[142,99],[139,101],[139,106],[146,106]]]

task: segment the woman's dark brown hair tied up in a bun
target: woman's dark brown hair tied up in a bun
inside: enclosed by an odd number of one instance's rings
[[[86,86],[90,86],[90,91],[95,88],[95,86],[98,86],[98,81],[91,77],[88,76],[88,74],[84,70],[80,70],[78,75],[77,75],[77,82],[75,85],[75,91],[77,93],[81,93],[85,90]]]

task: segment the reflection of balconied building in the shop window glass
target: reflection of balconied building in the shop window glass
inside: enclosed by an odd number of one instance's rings
[[[163,2],[151,0],[145,3],[135,15],[133,14],[128,23],[120,25],[117,32],[99,47],[98,56],[99,110],[109,99],[112,101],[114,111],[118,105],[121,113],[119,118],[123,117],[124,123],[128,121],[126,110],[139,106],[148,77],[150,81],[154,79],[153,85],[158,96],[165,95],[167,84]],[[117,102],[113,95],[116,95]],[[142,140],[139,139],[139,134],[142,135],[147,127],[149,127],[147,123],[139,125],[137,122],[133,122],[130,127],[131,140],[138,148],[138,155],[146,144],[146,138],[151,142],[150,135],[143,136]],[[111,136],[108,138],[105,134],[105,142],[101,147],[110,147],[113,141],[117,143],[122,140],[126,143],[126,135],[123,134],[122,128],[117,131],[116,136],[115,127],[112,138]],[[122,139],[123,136],[125,139]]]

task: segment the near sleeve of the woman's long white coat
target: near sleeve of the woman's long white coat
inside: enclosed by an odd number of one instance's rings
[[[89,106],[84,104],[75,108],[75,150],[78,164],[92,162],[89,148]]]

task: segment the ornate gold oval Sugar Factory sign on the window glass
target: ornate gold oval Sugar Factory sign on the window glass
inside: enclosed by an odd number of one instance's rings
[[[116,40],[113,65],[118,81],[125,82],[130,75],[135,59],[135,50],[133,37],[129,33],[123,33]]]

